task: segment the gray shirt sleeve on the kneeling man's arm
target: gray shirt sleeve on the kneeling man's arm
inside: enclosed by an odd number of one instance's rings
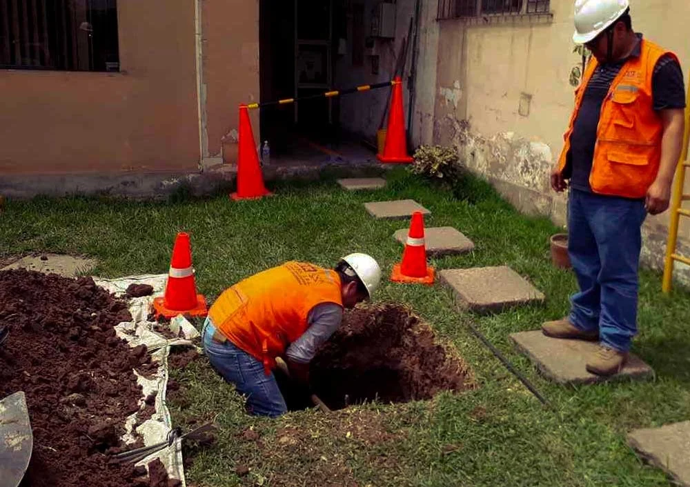
[[[317,304],[309,312],[309,328],[286,351],[285,355],[297,364],[308,364],[333,332],[338,329],[343,319],[343,308],[335,303]]]

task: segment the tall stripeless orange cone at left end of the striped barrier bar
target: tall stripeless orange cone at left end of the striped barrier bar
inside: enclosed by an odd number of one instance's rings
[[[237,192],[230,197],[239,199],[258,199],[270,195],[264,186],[264,175],[259,166],[259,154],[254,145],[254,132],[249,120],[246,105],[239,106],[239,143],[237,143]]]

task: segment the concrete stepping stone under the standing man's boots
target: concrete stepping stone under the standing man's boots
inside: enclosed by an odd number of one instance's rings
[[[596,352],[598,344],[592,341],[564,340],[546,337],[542,330],[513,333],[511,340],[547,379],[558,384],[595,384],[597,382],[621,379],[647,379],[654,371],[639,357],[630,355],[620,373],[601,377],[587,372],[585,366],[589,357]]]

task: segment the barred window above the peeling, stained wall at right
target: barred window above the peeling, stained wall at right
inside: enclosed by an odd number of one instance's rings
[[[549,13],[549,0],[438,0],[437,19]]]

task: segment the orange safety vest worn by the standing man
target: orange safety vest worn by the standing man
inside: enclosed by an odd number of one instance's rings
[[[589,184],[600,195],[643,198],[659,172],[662,121],[653,108],[652,76],[657,61],[673,52],[642,39],[640,56],[631,57],[613,79],[602,104],[597,142],[594,149]],[[582,83],[575,90],[575,110],[565,132],[565,144],[558,161],[561,173],[570,151],[570,136],[578,117],[584,90],[598,66],[592,57]]]

